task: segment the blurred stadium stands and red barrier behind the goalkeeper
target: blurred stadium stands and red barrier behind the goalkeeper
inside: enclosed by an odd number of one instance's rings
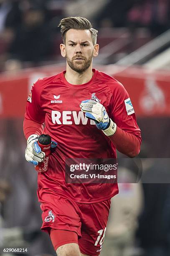
[[[99,30],[94,67],[127,88],[143,138],[143,182],[122,159],[101,256],[169,256],[170,0],[0,0],[0,247],[55,255],[22,125],[33,82],[65,68],[57,25],[76,15]]]

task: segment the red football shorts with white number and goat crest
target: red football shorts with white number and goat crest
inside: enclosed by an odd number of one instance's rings
[[[99,255],[106,233],[110,199],[93,204],[80,204],[64,198],[53,189],[45,188],[38,189],[37,195],[43,211],[42,230],[48,233],[51,229],[74,231],[78,235],[74,243],[79,244],[81,253]],[[73,243],[67,242],[67,239],[65,242],[58,241],[58,246],[54,249]]]

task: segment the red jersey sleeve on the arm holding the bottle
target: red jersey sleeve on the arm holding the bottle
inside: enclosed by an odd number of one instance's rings
[[[25,118],[43,124],[46,113],[41,108],[41,79],[33,84],[27,99]]]

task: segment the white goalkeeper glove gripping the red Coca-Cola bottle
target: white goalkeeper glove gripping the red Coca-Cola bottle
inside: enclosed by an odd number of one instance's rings
[[[31,164],[38,165],[45,157],[45,153],[38,146],[38,135],[32,134],[28,137],[27,148],[25,150],[25,159]]]

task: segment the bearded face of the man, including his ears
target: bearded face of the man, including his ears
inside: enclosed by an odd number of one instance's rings
[[[61,47],[61,55],[66,57],[71,69],[82,73],[90,67],[93,56],[98,55],[98,49],[98,45],[92,43],[89,30],[70,29],[66,33],[66,44]]]

